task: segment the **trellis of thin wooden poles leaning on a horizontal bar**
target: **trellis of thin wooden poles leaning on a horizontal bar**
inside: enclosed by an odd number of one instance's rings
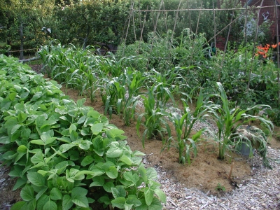
[[[235,0],[235,5],[238,3],[239,0]],[[195,35],[197,35],[197,29],[199,27],[199,22],[200,22],[200,15],[201,15],[201,12],[202,11],[213,11],[213,20],[214,20],[214,36],[211,37],[208,42],[212,41],[214,39],[214,45],[216,47],[216,37],[221,34],[222,31],[224,31],[225,29],[229,28],[228,29],[228,36],[227,38],[225,39],[225,49],[224,49],[224,52],[227,48],[227,45],[228,45],[228,41],[229,41],[229,37],[230,37],[230,30],[231,30],[231,26],[234,22],[236,22],[241,16],[245,15],[245,25],[244,25],[244,41],[245,43],[247,43],[247,18],[248,18],[248,10],[257,10],[257,27],[255,29],[255,41],[254,41],[254,48],[253,48],[253,53],[252,53],[252,58],[255,57],[255,43],[257,41],[257,37],[258,37],[258,22],[259,22],[259,15],[260,15],[260,9],[262,8],[274,8],[274,11],[275,11],[275,22],[276,22],[276,43],[279,43],[279,25],[278,25],[278,13],[277,13],[277,8],[280,6],[280,5],[277,5],[277,2],[276,0],[274,0],[274,6],[262,6],[263,4],[263,1],[261,1],[260,3],[260,6],[258,7],[248,7],[247,4],[245,7],[242,7],[242,8],[214,8],[214,1],[212,1],[213,3],[213,8],[202,8],[202,2],[201,2],[201,5],[200,5],[200,8],[189,8],[189,3],[188,3],[188,0],[186,0],[186,3],[187,3],[187,8],[180,8],[181,7],[181,3],[182,3],[182,0],[179,1],[179,6],[177,9],[173,9],[173,10],[166,10],[165,9],[165,0],[162,0],[160,2],[160,8],[158,10],[148,10],[148,7],[146,10],[141,10],[139,8],[134,8],[134,5],[135,5],[135,1],[132,0],[131,1],[131,4],[130,4],[130,14],[128,16],[128,24],[127,24],[127,30],[126,30],[126,34],[125,34],[125,37],[124,37],[124,41],[126,43],[126,40],[127,40],[127,34],[128,34],[128,31],[129,31],[129,27],[130,27],[130,22],[132,21],[132,26],[133,26],[133,30],[134,30],[134,38],[135,38],[135,41],[137,41],[137,36],[136,36],[136,29],[135,29],[135,22],[134,22],[134,14],[135,13],[138,13],[139,15],[139,20],[140,20],[140,31],[141,31],[141,35],[140,35],[140,41],[143,40],[143,31],[144,31],[144,27],[145,27],[145,23],[146,23],[146,15],[147,13],[158,13],[158,15],[156,15],[156,20],[155,20],[155,27],[153,29],[153,34],[155,35],[155,32],[157,30],[157,24],[158,24],[158,18],[160,16],[160,13],[166,13],[167,12],[176,12],[176,16],[175,16],[175,22],[174,22],[174,29],[172,31],[172,39],[174,38],[174,31],[176,29],[176,23],[177,23],[177,18],[178,18],[178,14],[180,11],[185,11],[185,12],[188,12],[188,18],[189,18],[189,28],[192,29],[192,25],[191,25],[191,21],[190,21],[190,11],[199,11],[199,16],[198,16],[198,20],[197,20],[197,26],[196,26],[196,30],[195,30]],[[230,20],[230,22],[228,23],[228,25],[226,25],[223,29],[221,29],[221,31],[216,31],[216,11],[221,11],[221,10],[230,10],[232,11],[232,18]],[[233,14],[235,13],[235,10],[242,10],[242,13],[237,17],[235,18],[235,20],[233,20]],[[144,22],[143,22],[143,25],[141,24],[141,13],[144,13]],[[166,18],[165,18],[165,24],[166,24]],[[154,37],[153,36],[153,40],[152,40],[152,45],[153,45],[153,41],[154,41]],[[139,45],[140,47],[140,45]],[[125,49],[123,49],[125,50]],[[152,49],[151,49],[152,50]],[[278,69],[280,69],[280,64],[279,64],[279,45],[277,45],[277,54],[276,54],[276,59],[277,59],[277,65],[278,65]],[[245,52],[247,53],[247,52]],[[225,56],[225,53],[223,54],[223,56]],[[223,61],[224,61],[224,57],[223,57]],[[221,63],[221,66],[223,66],[223,61]],[[245,65],[247,65],[247,63],[245,63]],[[251,73],[252,73],[252,69],[253,69],[253,59],[252,59],[252,62],[251,62],[251,66],[250,66],[250,71],[248,73],[248,85],[247,85],[247,90],[249,88],[249,83],[250,83],[250,80],[251,80]],[[246,73],[246,72],[245,72]],[[278,104],[280,104],[280,75],[279,75],[279,71],[278,71],[278,84],[279,84],[279,92],[278,92]]]

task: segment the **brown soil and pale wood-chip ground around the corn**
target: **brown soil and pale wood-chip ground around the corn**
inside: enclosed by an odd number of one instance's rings
[[[75,101],[80,98],[76,90],[63,90]],[[104,113],[102,100],[98,97],[93,103],[88,100],[85,106],[93,106],[94,110]],[[279,178],[276,176],[279,173],[279,142],[272,141],[267,153],[268,158],[274,159],[274,170],[262,168],[258,155],[253,160],[248,160],[244,156],[229,153],[230,156],[226,156],[225,160],[218,160],[218,145],[211,139],[202,141],[197,158],[188,166],[178,163],[178,152],[175,149],[160,153],[162,142],[156,139],[146,141],[145,148],[142,148],[141,138],[134,125],[125,126],[120,116],[113,115],[110,123],[125,131],[132,150],[146,153],[144,162],[158,172],[162,190],[167,195],[167,209],[234,209],[241,207],[238,205],[244,207],[244,204],[248,205],[249,209],[279,207]],[[232,174],[235,179],[230,182],[228,175],[232,162],[235,162]],[[1,185],[1,195],[6,195],[1,199],[2,209],[9,209],[11,204],[20,199],[18,190],[11,191],[15,181],[10,180],[7,174],[8,169],[1,168],[0,180],[5,183]],[[218,190],[218,186],[228,193]],[[239,204],[236,202],[237,197]]]

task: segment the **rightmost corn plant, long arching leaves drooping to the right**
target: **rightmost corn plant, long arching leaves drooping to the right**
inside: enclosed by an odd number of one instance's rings
[[[221,99],[221,105],[216,104],[212,106],[210,113],[212,113],[216,125],[218,127],[218,137],[217,141],[219,144],[219,155],[218,158],[223,160],[225,159],[225,151],[227,151],[230,146],[235,146],[235,138],[238,136],[240,139],[241,133],[237,132],[237,129],[241,125],[246,125],[253,120],[260,120],[264,127],[272,132],[273,124],[270,120],[266,120],[261,116],[252,116],[248,114],[248,111],[252,109],[270,109],[270,106],[267,105],[255,105],[247,108],[246,110],[241,110],[239,107],[230,109],[230,103],[228,97],[223,89],[223,85],[219,82],[216,83],[218,90],[221,94],[216,94],[217,97]],[[246,138],[246,137],[244,137]]]

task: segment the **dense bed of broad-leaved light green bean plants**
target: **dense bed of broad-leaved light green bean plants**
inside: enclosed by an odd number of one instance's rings
[[[22,188],[11,209],[162,209],[155,169],[122,130],[17,59],[0,66],[0,161]]]

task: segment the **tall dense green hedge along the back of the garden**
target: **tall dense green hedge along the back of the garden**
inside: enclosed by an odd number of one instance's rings
[[[202,3],[202,4],[201,4]],[[221,1],[221,8],[240,8],[241,4],[233,1]],[[131,10],[131,8],[134,10]],[[188,10],[197,9],[197,10]],[[209,10],[199,11],[200,8]],[[244,41],[244,15],[241,10],[216,10],[216,1],[159,0],[153,1],[38,1],[5,0],[0,3],[0,41],[11,45],[12,50],[20,47],[38,48],[50,39],[61,41],[62,45],[73,43],[87,45],[119,45],[135,41],[147,42],[150,34],[155,36],[172,36],[180,39],[183,29],[190,29],[194,34],[205,34],[209,43],[216,32],[224,29],[232,20],[231,40]],[[179,12],[174,10],[181,9]],[[148,12],[142,11],[148,10]],[[168,10],[155,12],[153,10]],[[248,20],[253,20],[255,13],[248,13]],[[227,20],[227,21],[225,21]],[[271,42],[267,21],[260,26],[258,41]],[[248,41],[254,38],[255,23],[251,22]],[[155,28],[156,27],[156,28]],[[48,31],[47,29],[50,29]],[[221,37],[227,37],[228,28],[221,31]],[[178,42],[179,43],[179,42]],[[175,43],[172,43],[175,44]],[[182,47],[182,45],[180,45]],[[36,50],[34,50],[36,51]],[[32,52],[32,51],[31,51]],[[160,57],[162,57],[160,55]],[[162,57],[165,58],[165,57]]]

